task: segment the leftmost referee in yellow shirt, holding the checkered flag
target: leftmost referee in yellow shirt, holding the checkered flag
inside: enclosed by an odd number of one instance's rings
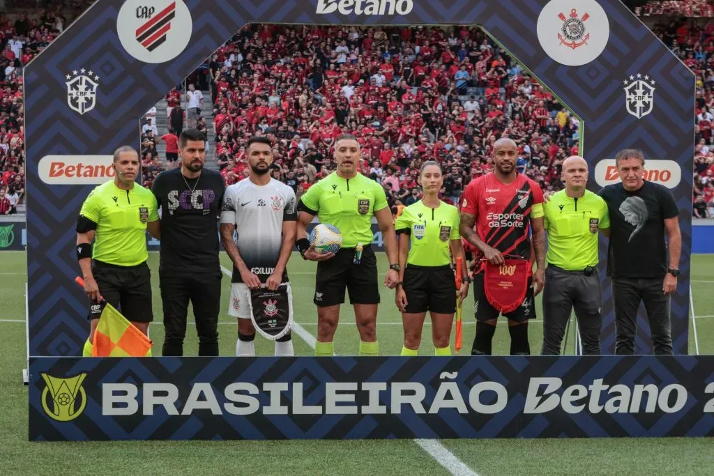
[[[134,183],[140,167],[134,148],[116,149],[112,166],[114,180],[89,193],[76,225],[77,259],[90,300],[89,339],[82,352],[85,357],[92,354],[102,311],[100,298],[120,310],[144,334],[154,320],[146,231],[159,238],[156,198],[148,188]]]

